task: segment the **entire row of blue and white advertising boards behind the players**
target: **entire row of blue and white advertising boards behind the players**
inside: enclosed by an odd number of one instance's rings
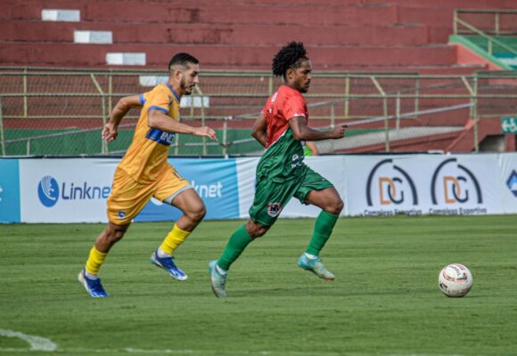
[[[169,158],[207,206],[206,219],[248,216],[259,158]],[[343,216],[516,214],[517,153],[320,156],[308,166],[345,200]],[[119,158],[0,159],[1,223],[106,222],[106,198]],[[283,217],[315,217],[297,199]],[[152,201],[135,221],[176,220]]]

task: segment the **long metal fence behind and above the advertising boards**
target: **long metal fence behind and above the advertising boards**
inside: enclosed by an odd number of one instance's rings
[[[139,112],[122,121],[119,138],[101,131],[120,97],[144,93],[167,80],[150,70],[0,68],[0,155],[122,155]],[[216,129],[219,142],[176,135],[171,155],[257,154],[250,127],[281,81],[269,72],[204,70],[193,95],[182,100],[182,120]],[[391,142],[414,138],[431,150],[432,136],[460,131],[469,120],[517,115],[517,74],[471,76],[416,73],[315,73],[308,101],[310,125],[346,122],[348,137],[332,151],[390,151]],[[441,130],[441,131],[440,131]],[[476,132],[477,133],[477,132]],[[477,135],[472,142],[479,148]],[[322,146],[324,147],[324,145]]]

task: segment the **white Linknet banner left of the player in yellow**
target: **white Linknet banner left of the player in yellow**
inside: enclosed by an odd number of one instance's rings
[[[21,159],[21,221],[107,222],[106,199],[119,159]]]

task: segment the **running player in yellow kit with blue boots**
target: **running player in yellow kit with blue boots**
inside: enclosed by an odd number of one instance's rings
[[[113,109],[110,122],[103,128],[103,139],[117,138],[122,117],[131,108],[142,108],[135,135],[126,155],[119,163],[108,198],[108,226],[95,240],[78,279],[93,297],[108,296],[98,277],[111,247],[124,237],[135,216],[152,198],[176,206],[183,212],[160,247],[152,253],[151,262],[168,271],[177,280],[187,275],[174,263],[173,254],[206,213],[193,186],[167,162],[168,149],[175,134],[207,136],[217,141],[208,126],[193,127],[179,123],[179,103],[199,83],[199,61],[188,53],[177,53],[168,63],[168,83],[152,91],[122,98]]]

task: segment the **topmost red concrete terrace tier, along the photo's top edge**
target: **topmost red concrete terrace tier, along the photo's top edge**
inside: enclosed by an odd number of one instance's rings
[[[396,20],[396,8],[390,4],[357,5],[317,3],[292,6],[278,3],[221,6],[209,2],[164,4],[137,1],[56,1],[29,2],[7,0],[10,4],[0,13],[0,20],[41,20],[41,11],[52,8],[74,9],[81,12],[86,22],[142,22],[142,23],[226,23],[226,24],[285,24],[285,25],[390,25]],[[229,3],[230,4],[230,3]],[[61,7],[60,7],[61,6]],[[288,14],[288,15],[287,15]]]

